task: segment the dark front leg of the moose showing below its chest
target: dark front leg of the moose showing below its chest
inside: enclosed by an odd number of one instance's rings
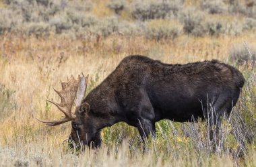
[[[150,134],[152,135],[152,137],[156,137],[155,123],[148,119],[138,119],[137,128],[139,130],[139,135],[141,136],[143,143],[148,140]]]

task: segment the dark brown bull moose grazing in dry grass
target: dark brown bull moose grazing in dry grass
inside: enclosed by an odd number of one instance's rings
[[[62,82],[55,103],[65,118],[41,121],[55,126],[71,121],[69,140],[82,146],[100,146],[100,130],[124,121],[137,127],[142,139],[155,135],[161,119],[192,121],[207,119],[216,125],[236,104],[245,78],[236,68],[218,60],[189,64],[165,64],[146,56],[127,56],[86,97],[88,76]],[[216,111],[204,114],[207,101]],[[75,113],[71,112],[75,103]],[[40,121],[40,120],[39,120]]]

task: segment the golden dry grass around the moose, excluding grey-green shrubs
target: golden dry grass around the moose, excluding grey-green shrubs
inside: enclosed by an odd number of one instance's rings
[[[0,119],[0,166],[255,165],[255,148],[251,148],[248,158],[241,158],[238,162],[234,162],[229,154],[199,157],[195,150],[189,148],[189,139],[179,136],[174,140],[168,138],[169,136],[164,140],[159,137],[150,142],[148,151],[143,153],[137,131],[123,124],[103,131],[104,144],[98,152],[86,150],[83,154],[72,154],[62,144],[69,135],[69,123],[59,127],[46,127],[35,119],[57,119],[61,116],[44,99],[57,99],[53,87],[58,89],[59,80],[65,80],[71,74],[90,74],[90,91],[129,54],[143,54],[167,63],[187,63],[213,58],[228,62],[232,44],[243,41],[249,44],[255,42],[255,34],[219,38],[180,36],[174,41],[160,42],[139,36],[109,36],[105,39],[86,36],[77,40],[65,36],[51,36],[47,39],[11,34],[1,36],[0,84],[15,91],[11,103],[15,103],[16,107],[10,109],[7,118]],[[241,70],[243,69],[242,67]],[[255,91],[255,87],[253,90]],[[127,141],[123,145],[115,138],[117,131],[127,137],[123,139]],[[168,140],[179,143],[179,148],[175,148],[176,145],[172,148],[179,154],[161,152],[164,146],[172,146],[166,144]]]

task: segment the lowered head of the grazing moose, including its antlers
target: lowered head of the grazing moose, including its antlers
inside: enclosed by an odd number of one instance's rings
[[[69,135],[69,147],[80,148],[81,146],[93,146],[97,148],[100,146],[100,131],[93,126],[94,117],[90,117],[90,105],[83,102],[86,94],[88,76],[80,77],[78,80],[72,76],[71,79],[67,78],[67,82],[61,82],[61,91],[55,92],[61,97],[61,103],[53,103],[65,117],[60,120],[54,121],[38,121],[45,123],[49,126],[56,126],[67,121],[71,121],[72,129]],[[73,104],[75,104],[75,111],[72,113]]]

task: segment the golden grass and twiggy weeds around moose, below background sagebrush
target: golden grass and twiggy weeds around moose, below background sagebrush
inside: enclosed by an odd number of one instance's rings
[[[68,123],[49,128],[35,119],[60,117],[60,113],[55,112],[55,107],[44,99],[52,97],[50,100],[58,101],[51,89],[58,89],[57,80],[65,80],[67,75],[81,72],[90,74],[90,91],[129,54],[148,55],[168,63],[212,58],[228,62],[229,50],[232,50],[235,43],[241,42],[243,45],[245,38],[248,44],[253,44],[255,39],[254,36],[195,39],[181,36],[175,42],[157,42],[122,35],[108,38],[91,35],[79,40],[65,36],[51,36],[48,40],[24,35],[2,36],[0,69],[1,85],[5,86],[0,95],[1,101],[3,99],[3,104],[7,106],[3,111],[8,111],[8,115],[0,121],[1,164],[239,166],[244,163],[250,166],[254,163],[256,133],[255,75],[250,65],[238,66],[247,83],[231,117],[224,118],[220,143],[209,143],[209,129],[205,122],[182,124],[160,121],[157,124],[156,140],[149,140],[147,151],[143,153],[137,130],[119,123],[102,131],[103,145],[100,150],[86,149],[77,156],[62,144],[70,133]],[[6,99],[5,93],[8,90],[11,90],[11,99]],[[212,150],[213,144],[218,148],[217,152]]]

